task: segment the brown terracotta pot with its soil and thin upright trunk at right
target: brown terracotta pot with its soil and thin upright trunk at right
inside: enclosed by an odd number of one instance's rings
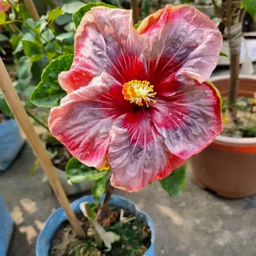
[[[223,96],[223,134],[191,158],[195,180],[218,195],[239,198],[256,192],[256,77],[239,76],[241,21],[245,10],[256,17],[253,1],[223,1],[230,45],[230,76],[211,79]]]

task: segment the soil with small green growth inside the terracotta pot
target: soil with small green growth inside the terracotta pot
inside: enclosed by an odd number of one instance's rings
[[[233,138],[255,138],[256,99],[239,97],[233,108],[237,111],[236,122],[230,117],[227,100],[223,100],[223,131],[221,135]]]

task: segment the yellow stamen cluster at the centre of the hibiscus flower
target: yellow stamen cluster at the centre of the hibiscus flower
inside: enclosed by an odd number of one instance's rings
[[[124,83],[122,93],[125,100],[130,100],[131,103],[136,103],[139,106],[143,106],[145,102],[147,107],[149,107],[148,102],[152,101],[156,103],[156,100],[152,99],[156,95],[153,88],[154,85],[150,85],[148,81],[135,79]]]

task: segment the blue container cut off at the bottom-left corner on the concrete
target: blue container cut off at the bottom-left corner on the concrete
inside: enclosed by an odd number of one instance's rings
[[[13,232],[12,216],[0,196],[0,255],[7,254],[8,246]]]

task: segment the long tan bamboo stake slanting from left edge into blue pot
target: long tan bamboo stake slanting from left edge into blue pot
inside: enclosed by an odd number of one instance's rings
[[[63,188],[60,184],[60,180],[56,175],[54,170],[54,166],[52,165],[52,161],[49,157],[49,154],[45,150],[44,146],[36,131],[29,121],[28,115],[24,107],[22,106],[22,102],[20,102],[19,96],[17,95],[10,76],[6,68],[4,67],[4,63],[0,58],[0,90],[3,93],[4,99],[8,103],[9,108],[12,110],[13,115],[15,116],[17,122],[19,123],[20,127],[22,128],[24,134],[28,138],[28,141],[35,151],[36,156],[38,157],[40,163],[42,164],[44,171],[49,179],[49,182],[52,186],[52,189],[60,202],[61,207],[66,212],[68,220],[70,224],[73,226],[74,230],[76,230],[77,234],[80,237],[85,237],[85,233],[81,225],[79,224],[76,215],[72,211],[68,198],[63,191]]]

